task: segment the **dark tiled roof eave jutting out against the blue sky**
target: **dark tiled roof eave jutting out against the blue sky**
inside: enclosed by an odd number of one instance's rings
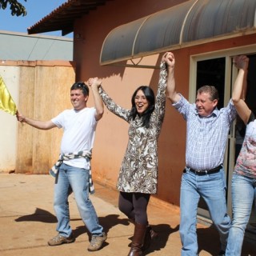
[[[88,14],[90,10],[105,5],[112,0],[67,0],[49,15],[27,29],[28,34],[38,34],[62,30],[62,35],[73,32],[74,20]]]

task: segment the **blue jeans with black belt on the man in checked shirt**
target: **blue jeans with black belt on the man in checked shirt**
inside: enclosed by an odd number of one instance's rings
[[[230,217],[226,213],[226,178],[224,170],[199,176],[186,168],[182,175],[181,222],[182,256],[198,255],[197,213],[200,196],[205,200],[210,217],[220,234],[222,250],[226,250]]]

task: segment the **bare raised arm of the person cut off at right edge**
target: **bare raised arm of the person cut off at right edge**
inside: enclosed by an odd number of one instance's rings
[[[234,65],[239,69],[238,76],[234,82],[234,88],[232,92],[232,100],[236,110],[238,111],[239,117],[242,121],[247,124],[248,119],[250,118],[251,110],[246,105],[245,93],[246,90],[246,74],[248,68],[249,58],[245,55],[236,56],[234,58]]]

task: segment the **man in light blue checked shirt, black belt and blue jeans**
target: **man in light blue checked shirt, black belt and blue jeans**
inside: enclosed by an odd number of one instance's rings
[[[218,255],[225,255],[231,221],[226,212],[226,178],[222,163],[236,110],[232,100],[226,107],[217,109],[218,90],[214,86],[199,88],[196,102],[190,104],[176,92],[174,54],[168,53],[165,61],[167,98],[186,120],[186,168],[182,175],[179,229],[182,256],[198,255],[196,225],[200,197],[206,202],[220,235],[221,251]]]

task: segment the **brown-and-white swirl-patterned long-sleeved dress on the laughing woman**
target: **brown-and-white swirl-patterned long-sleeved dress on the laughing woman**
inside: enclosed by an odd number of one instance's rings
[[[130,110],[118,106],[103,88],[99,87],[107,109],[130,124],[129,141],[118,175],[117,188],[128,193],[156,194],[158,183],[158,136],[162,127],[166,106],[166,64],[160,65],[158,92],[154,112],[150,117],[150,127],[142,126],[138,115],[130,118]]]

